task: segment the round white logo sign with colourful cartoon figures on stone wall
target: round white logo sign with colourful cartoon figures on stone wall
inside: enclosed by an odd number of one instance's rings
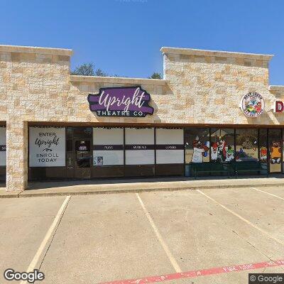
[[[249,117],[260,116],[264,110],[264,99],[261,94],[249,92],[241,99],[241,110]]]

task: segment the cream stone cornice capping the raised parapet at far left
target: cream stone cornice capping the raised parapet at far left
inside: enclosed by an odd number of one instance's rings
[[[41,48],[38,46],[0,45],[0,51],[6,53],[40,53],[48,55],[71,56],[72,49],[67,48]]]

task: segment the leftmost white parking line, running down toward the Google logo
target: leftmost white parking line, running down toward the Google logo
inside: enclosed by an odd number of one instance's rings
[[[53,232],[55,231],[55,228],[58,226],[58,223],[60,222],[60,219],[62,217],[62,214],[65,211],[65,208],[67,207],[67,204],[70,200],[70,195],[68,195],[64,202],[62,203],[58,214],[56,214],[55,219],[53,220],[53,224],[50,225],[47,233],[45,234],[45,237],[43,241],[41,242],[38,251],[35,253],[35,256],[33,256],[33,260],[31,261],[30,265],[28,266],[28,269],[26,272],[31,272],[35,269],[36,264],[38,263],[38,260],[40,258],[41,253],[43,253],[43,250],[45,249],[46,244],[48,244],[48,240],[50,239],[51,236],[53,236]],[[26,284],[28,283],[26,280],[22,280],[20,284]]]

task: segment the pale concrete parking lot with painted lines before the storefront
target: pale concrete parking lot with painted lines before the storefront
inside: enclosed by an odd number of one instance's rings
[[[284,187],[2,199],[0,283],[248,283],[284,273],[283,212]]]

